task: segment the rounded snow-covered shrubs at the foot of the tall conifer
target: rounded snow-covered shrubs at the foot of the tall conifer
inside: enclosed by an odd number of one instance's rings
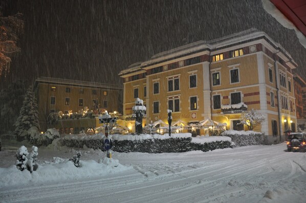
[[[29,141],[31,144],[37,146],[48,146],[52,144],[53,140],[59,138],[59,132],[55,128],[49,128],[45,133],[40,134],[38,131],[34,133],[28,132],[30,135]]]

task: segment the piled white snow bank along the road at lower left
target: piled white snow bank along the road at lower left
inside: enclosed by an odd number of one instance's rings
[[[0,168],[0,190],[8,186],[81,180],[134,170],[133,166],[126,167],[119,164],[118,160],[107,159],[104,158],[100,163],[94,160],[80,161],[82,167],[77,168],[67,159],[53,157],[53,162],[38,165],[38,169],[33,173],[28,170],[20,171],[15,165]]]

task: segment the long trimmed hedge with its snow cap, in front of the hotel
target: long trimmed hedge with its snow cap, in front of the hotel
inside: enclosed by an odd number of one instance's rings
[[[186,152],[192,150],[209,151],[214,149],[223,149],[232,147],[231,139],[228,137],[198,137],[191,138],[191,133],[171,134],[141,134],[141,135],[110,135],[113,140],[112,150],[117,152]],[[103,134],[98,133],[93,136],[73,135],[65,136],[61,139],[61,145],[74,148],[83,148],[84,146],[93,149],[103,147]]]

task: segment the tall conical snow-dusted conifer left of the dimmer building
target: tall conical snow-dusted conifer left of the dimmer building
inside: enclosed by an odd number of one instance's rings
[[[38,122],[38,106],[34,92],[32,91],[32,86],[27,90],[15,127],[14,134],[18,140],[21,140],[21,138],[28,134],[30,127],[40,128]]]

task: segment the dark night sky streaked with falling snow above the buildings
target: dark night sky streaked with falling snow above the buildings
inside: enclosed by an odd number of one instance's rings
[[[268,14],[261,0],[13,2],[12,10],[24,14],[25,33],[8,82],[46,76],[122,85],[118,73],[132,63],[252,27],[279,42],[305,69],[306,50],[294,31]]]

